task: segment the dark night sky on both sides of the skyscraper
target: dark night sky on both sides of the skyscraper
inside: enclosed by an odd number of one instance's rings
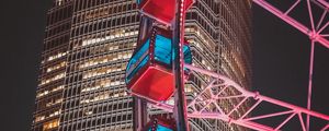
[[[1,0],[0,5],[0,130],[27,131],[50,0]],[[309,39],[258,5],[253,7],[252,22],[253,90],[306,107]],[[328,58],[329,49],[317,44],[313,109],[327,115]]]

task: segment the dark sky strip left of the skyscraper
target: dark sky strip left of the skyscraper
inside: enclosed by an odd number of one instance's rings
[[[0,2],[1,131],[30,129],[49,1]]]

